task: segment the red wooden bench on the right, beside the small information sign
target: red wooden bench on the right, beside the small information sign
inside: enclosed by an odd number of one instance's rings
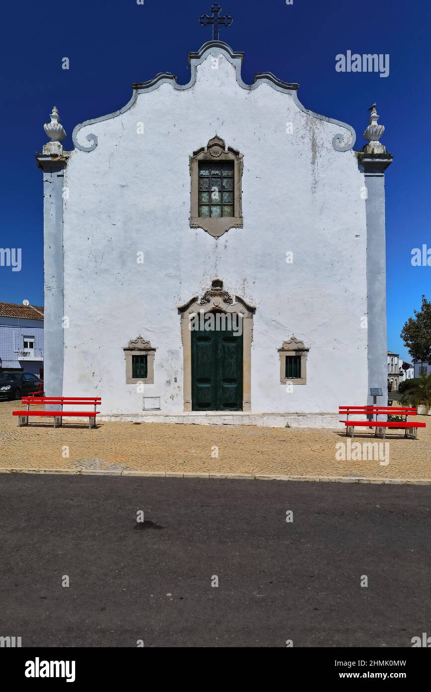
[[[425,423],[414,423],[407,421],[407,416],[416,416],[416,408],[394,408],[393,406],[340,406],[339,407],[340,416],[345,415],[346,420],[340,421],[346,426],[346,435],[354,437],[354,430],[356,427],[362,428],[376,428],[375,435],[383,435],[383,439],[386,437],[386,428],[403,428],[405,430],[404,437],[412,437],[417,439],[418,428],[425,428]],[[349,415],[366,415],[370,417],[367,421],[357,421],[349,419]],[[376,419],[373,420],[373,416]],[[398,415],[405,416],[405,421],[379,421],[378,416],[388,415]]]

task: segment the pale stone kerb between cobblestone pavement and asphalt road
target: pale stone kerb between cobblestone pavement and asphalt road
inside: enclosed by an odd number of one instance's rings
[[[258,473],[183,473],[181,471],[97,471],[93,468],[2,468],[0,473],[51,473],[61,475],[107,475],[158,478],[208,478],[212,480],[290,480],[330,483],[379,483],[382,485],[431,485],[431,478],[366,478],[349,476],[289,476]]]

